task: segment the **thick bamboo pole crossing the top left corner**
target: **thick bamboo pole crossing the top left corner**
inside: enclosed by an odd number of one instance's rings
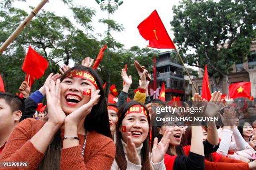
[[[8,39],[1,45],[0,47],[0,55],[3,54],[4,50],[13,42],[13,40],[20,34],[20,32],[28,25],[28,23],[32,20],[34,16],[41,10],[41,8],[48,2],[49,0],[42,0],[32,11],[31,13],[23,20],[22,23],[16,28],[16,30],[8,37]]]

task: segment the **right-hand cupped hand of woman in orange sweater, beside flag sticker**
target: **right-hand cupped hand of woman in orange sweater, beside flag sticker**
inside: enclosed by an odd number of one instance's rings
[[[92,110],[92,107],[100,100],[100,90],[92,92],[91,99],[86,104],[79,107],[77,110],[69,114],[65,119],[65,125],[78,125],[80,120],[86,117]]]

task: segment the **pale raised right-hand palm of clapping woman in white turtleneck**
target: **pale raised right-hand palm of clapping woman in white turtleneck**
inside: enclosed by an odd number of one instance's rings
[[[164,159],[164,155],[170,144],[171,131],[166,130],[164,136],[159,143],[157,143],[157,138],[154,138],[154,144],[152,148],[152,161],[153,163],[160,163]]]

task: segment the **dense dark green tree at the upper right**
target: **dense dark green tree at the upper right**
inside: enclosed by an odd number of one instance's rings
[[[191,66],[204,68],[218,90],[235,63],[250,52],[255,38],[256,2],[251,0],[182,0],[173,7],[174,41]],[[188,52],[195,51],[194,53]]]

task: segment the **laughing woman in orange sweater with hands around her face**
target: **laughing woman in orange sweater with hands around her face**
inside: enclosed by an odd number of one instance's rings
[[[40,170],[110,169],[115,144],[97,73],[78,65],[44,90],[49,120],[20,122],[0,161],[27,162]]]

